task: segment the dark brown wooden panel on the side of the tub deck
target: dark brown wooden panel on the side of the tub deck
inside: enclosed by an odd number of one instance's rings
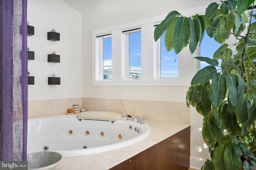
[[[190,127],[187,127],[110,170],[187,170],[189,159]]]

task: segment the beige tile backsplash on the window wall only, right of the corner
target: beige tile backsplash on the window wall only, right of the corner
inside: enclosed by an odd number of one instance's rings
[[[135,118],[190,124],[190,108],[186,102],[83,98],[82,106],[86,111],[112,111]]]

